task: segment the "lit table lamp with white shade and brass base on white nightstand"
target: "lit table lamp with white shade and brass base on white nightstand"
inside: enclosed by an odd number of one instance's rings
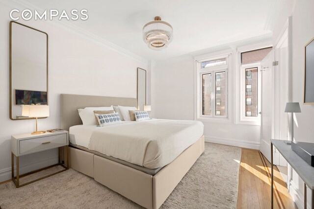
[[[48,117],[49,116],[49,106],[48,105],[24,105],[22,106],[22,116],[35,117],[36,118],[36,131],[31,134],[43,134],[46,131],[37,130],[37,118],[38,117]]]

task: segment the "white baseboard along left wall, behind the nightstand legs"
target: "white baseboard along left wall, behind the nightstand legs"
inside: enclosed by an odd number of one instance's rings
[[[37,170],[49,165],[56,164],[58,162],[58,157],[44,159],[40,162],[20,165],[20,173],[27,173],[33,170]],[[16,167],[14,167],[14,172],[16,171]],[[0,170],[0,183],[11,179],[11,167],[4,168]]]

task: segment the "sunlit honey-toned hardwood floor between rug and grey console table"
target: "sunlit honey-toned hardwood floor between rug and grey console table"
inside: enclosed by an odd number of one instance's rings
[[[274,209],[297,209],[274,166]],[[237,209],[270,209],[270,163],[258,150],[242,148]]]

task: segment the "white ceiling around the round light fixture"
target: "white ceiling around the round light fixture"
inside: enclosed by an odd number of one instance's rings
[[[71,21],[146,60],[177,57],[201,49],[269,35],[278,0],[27,0],[42,9],[87,9],[87,21]],[[145,23],[160,16],[173,26],[168,48],[149,49]]]

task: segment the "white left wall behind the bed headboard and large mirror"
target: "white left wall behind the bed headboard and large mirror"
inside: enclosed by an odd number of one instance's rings
[[[0,182],[11,178],[11,135],[35,130],[34,120],[9,119],[9,12],[0,6]],[[136,68],[147,62],[125,52],[109,49],[100,40],[88,37],[59,23],[19,21],[49,35],[50,117],[38,120],[38,128],[60,127],[60,93],[136,97]],[[148,81],[149,82],[149,81]],[[150,91],[150,90],[149,90]],[[56,163],[57,150],[21,157],[21,171],[27,172]]]

